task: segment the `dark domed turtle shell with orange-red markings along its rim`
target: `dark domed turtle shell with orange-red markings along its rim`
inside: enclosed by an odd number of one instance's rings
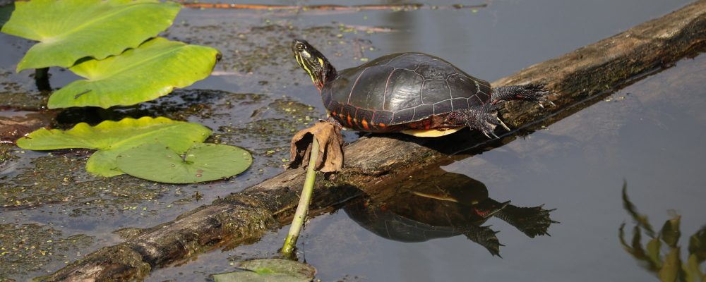
[[[436,56],[402,53],[340,71],[321,94],[345,127],[389,132],[419,128],[405,125],[420,121],[438,128],[451,111],[488,103],[491,87]]]

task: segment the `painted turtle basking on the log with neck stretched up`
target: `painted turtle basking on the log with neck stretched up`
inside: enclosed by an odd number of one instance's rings
[[[497,137],[497,125],[510,130],[498,118],[498,103],[554,105],[544,85],[491,88],[486,80],[424,53],[390,54],[336,71],[306,40],[294,39],[292,51],[321,93],[329,120],[343,128],[437,137],[469,127],[490,138]]]

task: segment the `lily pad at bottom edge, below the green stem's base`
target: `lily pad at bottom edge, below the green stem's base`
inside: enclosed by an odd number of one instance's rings
[[[316,275],[316,269],[309,264],[289,259],[253,259],[237,265],[246,271],[214,274],[215,282],[309,282]]]

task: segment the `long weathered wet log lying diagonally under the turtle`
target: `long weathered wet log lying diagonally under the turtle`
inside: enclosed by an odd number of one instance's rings
[[[493,85],[543,82],[556,92],[556,107],[510,102],[501,114],[511,128],[532,129],[580,111],[604,95],[685,56],[706,49],[706,0],[696,1],[662,18],[626,32],[538,63]],[[522,133],[522,132],[520,132]],[[361,191],[371,197],[392,197],[381,192],[409,176],[424,176],[426,168],[448,164],[493,147],[502,146],[516,133],[488,141],[471,133],[439,138],[371,135],[345,148],[345,168],[324,179],[319,176],[311,213],[330,207]],[[470,148],[470,149],[468,149]],[[292,169],[242,192],[199,207],[160,226],[141,231],[126,242],[104,247],[80,261],[40,278],[42,281],[140,280],[151,269],[185,262],[215,247],[234,247],[257,240],[264,231],[288,223],[296,208],[304,169]],[[273,246],[275,247],[275,246]]]

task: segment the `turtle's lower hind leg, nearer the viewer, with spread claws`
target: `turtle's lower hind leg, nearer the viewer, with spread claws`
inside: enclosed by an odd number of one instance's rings
[[[479,130],[481,133],[490,138],[498,137],[493,133],[493,130],[498,125],[503,126],[506,130],[510,131],[508,125],[505,125],[503,121],[498,118],[498,111],[496,106],[492,104],[485,104],[483,106],[475,106],[470,109],[462,109],[458,111],[452,111],[448,115],[448,122],[456,125],[467,125],[471,129]]]

